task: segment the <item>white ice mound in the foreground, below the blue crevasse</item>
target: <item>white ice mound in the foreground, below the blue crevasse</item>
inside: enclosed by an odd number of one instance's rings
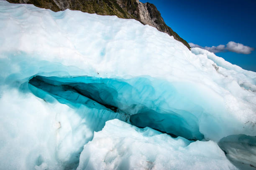
[[[77,170],[227,170],[236,167],[212,141],[190,143],[120,120],[106,122],[84,145]]]

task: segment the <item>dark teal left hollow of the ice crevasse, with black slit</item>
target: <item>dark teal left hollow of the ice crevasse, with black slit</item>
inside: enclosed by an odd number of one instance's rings
[[[95,107],[97,103],[97,105],[102,105],[114,112],[118,110],[113,97],[117,95],[117,92],[104,83],[59,82],[37,75],[29,80],[29,84],[74,103],[91,107],[87,100],[79,98],[79,95],[82,95],[95,102],[92,107]]]

